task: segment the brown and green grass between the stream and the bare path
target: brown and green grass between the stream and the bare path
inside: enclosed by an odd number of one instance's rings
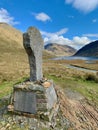
[[[81,93],[87,100],[98,107],[97,75],[68,69],[62,66],[61,63],[50,62],[46,63],[45,66],[44,73],[46,77],[53,79],[63,89],[70,88],[73,91]]]

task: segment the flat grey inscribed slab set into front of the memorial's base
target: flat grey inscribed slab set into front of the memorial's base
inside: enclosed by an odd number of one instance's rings
[[[36,94],[25,91],[15,91],[14,93],[15,111],[36,113]]]

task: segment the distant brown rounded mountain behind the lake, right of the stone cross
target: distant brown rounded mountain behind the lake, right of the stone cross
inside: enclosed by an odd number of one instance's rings
[[[76,49],[68,45],[60,45],[57,43],[49,43],[44,48],[56,56],[71,56],[76,52]]]

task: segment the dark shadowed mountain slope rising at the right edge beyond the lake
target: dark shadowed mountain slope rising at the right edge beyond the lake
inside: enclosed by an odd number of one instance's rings
[[[82,47],[75,56],[98,57],[98,40]]]

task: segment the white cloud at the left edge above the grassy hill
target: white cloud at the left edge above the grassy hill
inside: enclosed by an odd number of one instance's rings
[[[8,23],[10,25],[19,24],[19,22],[15,21],[14,17],[10,16],[9,12],[4,8],[0,9],[0,22]]]

